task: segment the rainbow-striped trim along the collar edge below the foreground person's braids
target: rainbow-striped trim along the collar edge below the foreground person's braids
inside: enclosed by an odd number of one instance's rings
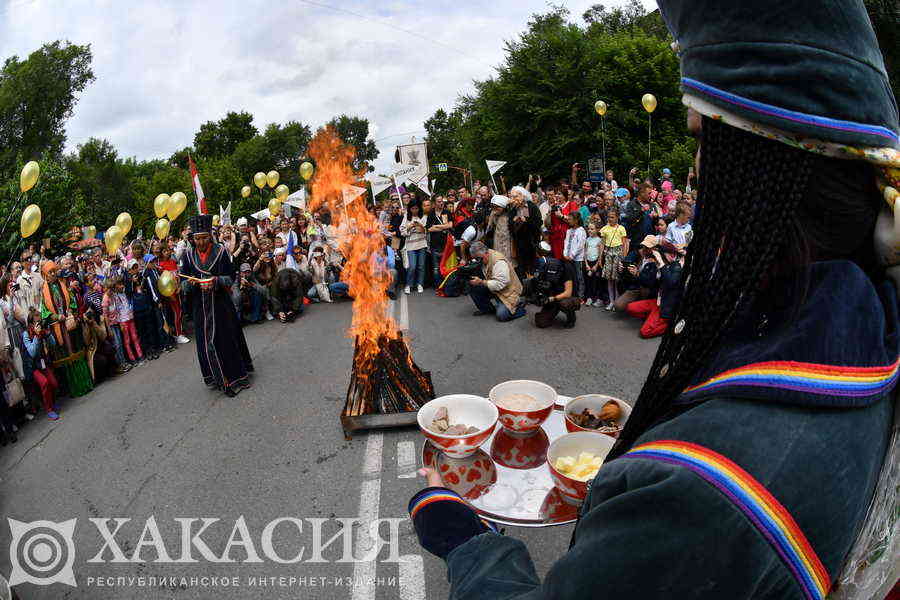
[[[898,369],[900,359],[884,367],[841,367],[776,360],[725,371],[685,389],[683,394],[696,395],[723,386],[751,386],[858,398],[889,390],[897,381]]]

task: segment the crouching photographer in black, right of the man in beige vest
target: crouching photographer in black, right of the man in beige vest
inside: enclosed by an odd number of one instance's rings
[[[565,327],[575,327],[575,311],[581,308],[581,299],[573,297],[575,268],[571,262],[551,256],[550,244],[538,246],[538,268],[534,277],[525,282],[528,302],[540,306],[534,315],[534,325],[540,329],[550,327],[556,315],[565,313]]]

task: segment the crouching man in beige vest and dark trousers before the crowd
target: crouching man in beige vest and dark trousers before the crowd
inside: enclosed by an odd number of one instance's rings
[[[525,305],[519,302],[522,283],[509,260],[483,242],[473,242],[469,254],[482,263],[485,277],[469,279],[469,297],[478,309],[472,314],[496,315],[501,323],[525,316]]]

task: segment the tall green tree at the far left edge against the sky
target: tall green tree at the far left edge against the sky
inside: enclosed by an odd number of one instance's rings
[[[6,59],[0,71],[0,175],[16,162],[57,159],[65,124],[85,87],[94,81],[91,48],[68,42],[44,44],[27,59]]]

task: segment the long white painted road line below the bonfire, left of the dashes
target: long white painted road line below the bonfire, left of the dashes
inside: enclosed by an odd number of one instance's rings
[[[384,447],[384,436],[381,433],[369,433],[366,439],[366,451],[363,456],[363,481],[359,491],[359,529],[356,531],[356,556],[367,554],[373,541],[369,535],[371,524],[378,519],[378,505],[381,502],[381,452]],[[372,600],[375,598],[375,561],[356,562],[353,565],[352,600]]]

